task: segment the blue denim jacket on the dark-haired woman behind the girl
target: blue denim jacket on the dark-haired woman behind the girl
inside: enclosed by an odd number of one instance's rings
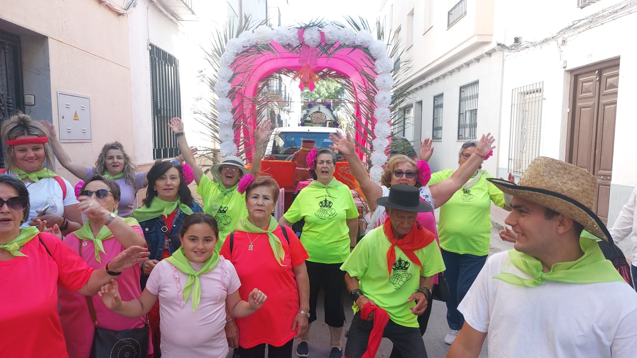
[[[192,205],[190,205],[190,209],[192,210],[192,212],[203,211],[201,210],[201,206],[199,206],[199,204],[196,202],[192,202]],[[144,233],[146,245],[148,246],[148,251],[150,252],[150,256],[148,256],[149,260],[155,259],[157,261],[161,261],[161,256],[164,252],[164,243],[166,242],[166,231],[171,233],[176,242],[179,242],[179,232],[182,230],[182,224],[186,217],[187,215],[182,212],[182,209],[180,209],[180,207],[177,207],[177,214],[175,215],[175,221],[173,221],[172,228],[166,228],[164,217],[162,217],[161,215],[153,219],[142,221],[140,223],[141,231]],[[171,240],[170,238],[168,239],[168,250],[171,254],[179,249],[179,247],[180,245],[174,245],[173,240]],[[141,289],[144,289],[144,287],[146,287],[147,280],[148,275],[144,275],[144,270],[141,270]]]

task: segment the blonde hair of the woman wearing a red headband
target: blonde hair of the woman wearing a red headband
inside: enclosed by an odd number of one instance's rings
[[[47,128],[40,121],[32,120],[30,116],[19,112],[5,121],[2,126],[2,140],[13,141],[20,135],[36,135],[38,137],[48,137]],[[55,170],[55,153],[50,143],[44,143],[44,155],[49,170]],[[10,172],[15,172],[17,165],[15,163],[15,151],[13,146],[6,147],[6,156],[4,158],[4,166]]]

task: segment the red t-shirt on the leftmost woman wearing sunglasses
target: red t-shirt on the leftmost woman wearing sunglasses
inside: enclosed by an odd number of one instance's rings
[[[22,253],[0,261],[0,357],[66,358],[66,343],[57,314],[57,286],[81,289],[93,269],[59,238],[40,233]]]

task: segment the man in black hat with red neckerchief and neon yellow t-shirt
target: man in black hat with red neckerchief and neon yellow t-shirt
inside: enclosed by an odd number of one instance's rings
[[[419,212],[433,208],[415,186],[392,185],[376,200],[387,220],[356,245],[341,270],[354,300],[345,357],[374,357],[387,337],[406,358],[427,357],[417,315],[427,308],[433,276],[445,270],[434,234],[420,226]]]

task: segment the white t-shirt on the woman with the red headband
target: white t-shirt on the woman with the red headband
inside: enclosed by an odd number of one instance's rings
[[[64,178],[62,179],[66,184],[66,198],[64,200],[62,200],[64,197],[62,196],[62,187],[54,178],[41,178],[39,179],[39,182],[24,183],[24,185],[27,186],[27,190],[29,190],[29,203],[31,204],[31,209],[29,209],[29,218],[24,222],[24,224],[20,225],[20,228],[29,226],[31,218],[38,216],[36,210],[41,210],[45,206],[48,200],[47,196],[49,195],[53,196],[53,201],[55,202],[55,214],[58,214],[59,216],[64,214],[64,207],[66,205],[79,203],[77,198],[75,198],[75,189],[73,189],[73,185],[71,185],[68,180]]]

